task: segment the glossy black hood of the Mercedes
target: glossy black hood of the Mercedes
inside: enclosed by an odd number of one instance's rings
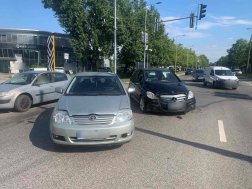
[[[147,91],[153,92],[155,95],[167,94],[185,94],[188,89],[182,82],[176,83],[157,83],[157,82],[146,82],[145,88]]]

